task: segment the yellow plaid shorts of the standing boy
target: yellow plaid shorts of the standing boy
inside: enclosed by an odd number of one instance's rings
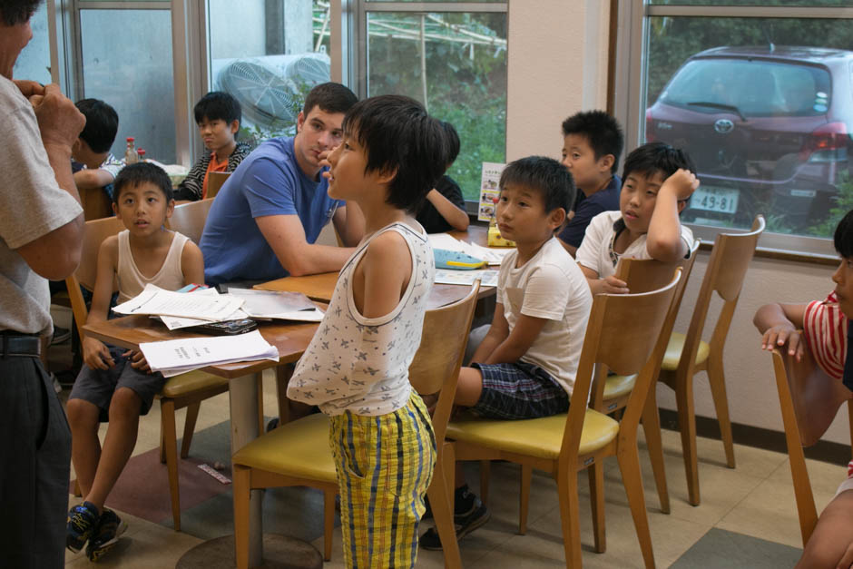
[[[348,567],[414,567],[436,437],[414,391],[406,407],[368,417],[329,417],[338,469],[340,523]]]

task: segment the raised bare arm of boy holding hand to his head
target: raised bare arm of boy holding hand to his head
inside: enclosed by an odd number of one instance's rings
[[[663,182],[652,211],[646,250],[652,259],[674,262],[683,259],[688,245],[681,240],[679,201],[687,200],[699,187],[699,180],[688,170],[681,169]]]

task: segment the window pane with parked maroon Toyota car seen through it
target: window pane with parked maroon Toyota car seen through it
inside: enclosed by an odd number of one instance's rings
[[[853,208],[851,21],[650,17],[645,140],[690,153],[682,220],[829,237]]]

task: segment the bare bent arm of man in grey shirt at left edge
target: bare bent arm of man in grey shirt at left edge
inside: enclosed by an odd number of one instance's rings
[[[33,88],[32,85],[28,87]],[[86,119],[74,103],[59,91],[57,85],[45,86],[44,95],[33,94],[30,101],[56,182],[79,202],[80,196],[71,173],[71,145],[83,130]],[[38,189],[31,188],[28,191]],[[77,268],[82,247],[81,212],[73,221],[30,241],[17,251],[37,274],[45,279],[61,280]]]

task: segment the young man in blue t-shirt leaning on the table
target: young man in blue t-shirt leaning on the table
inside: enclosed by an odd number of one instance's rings
[[[339,270],[364,235],[355,204],[328,197],[321,161],[341,141],[357,97],[339,83],[314,87],[293,138],[263,142],[229,177],[201,235],[208,284]],[[315,244],[332,221],[345,247]]]

